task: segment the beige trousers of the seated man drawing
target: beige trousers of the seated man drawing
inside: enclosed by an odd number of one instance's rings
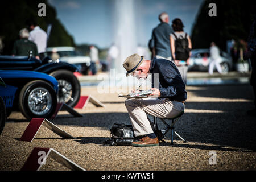
[[[128,98],[125,101],[125,106],[131,119],[131,125],[133,125],[135,137],[154,132],[147,114],[158,118],[173,118],[185,109],[182,102],[169,101],[168,98]]]

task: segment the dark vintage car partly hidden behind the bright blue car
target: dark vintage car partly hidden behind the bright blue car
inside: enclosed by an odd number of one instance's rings
[[[52,61],[49,57],[43,61],[30,56],[0,56],[2,70],[30,70],[46,73],[59,82],[58,102],[65,102],[69,106],[76,106],[80,98],[80,82],[73,72],[79,69],[72,64]]]

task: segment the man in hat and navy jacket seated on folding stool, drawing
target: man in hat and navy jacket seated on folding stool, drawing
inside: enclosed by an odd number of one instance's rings
[[[138,54],[127,57],[123,63],[126,76],[146,79],[152,74],[152,98],[129,98],[125,101],[136,138],[132,143],[136,147],[158,146],[156,137],[147,114],[158,118],[173,118],[184,111],[187,99],[185,84],[174,63],[166,59],[144,60]],[[155,79],[155,77],[158,79]],[[154,80],[157,80],[157,82]]]

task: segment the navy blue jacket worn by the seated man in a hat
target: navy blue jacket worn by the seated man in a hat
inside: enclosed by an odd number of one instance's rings
[[[185,84],[172,61],[156,58],[151,60],[150,73],[152,74],[152,88],[160,90],[159,98],[169,98],[170,101],[185,101],[187,99]],[[155,85],[155,81],[159,82],[158,87]]]

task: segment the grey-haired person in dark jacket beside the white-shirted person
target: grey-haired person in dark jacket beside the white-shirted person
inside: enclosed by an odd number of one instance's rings
[[[38,48],[34,42],[28,40],[30,33],[27,28],[23,28],[19,31],[19,40],[14,42],[13,46],[13,56],[30,56],[30,51],[32,51],[32,56],[39,59]]]

